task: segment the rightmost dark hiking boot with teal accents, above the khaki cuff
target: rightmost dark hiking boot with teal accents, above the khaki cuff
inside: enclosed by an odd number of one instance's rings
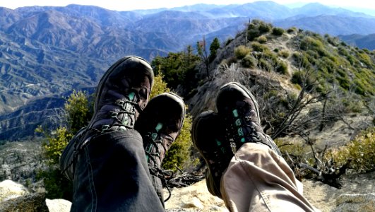
[[[250,90],[239,83],[227,83],[219,90],[216,98],[218,114],[225,120],[226,141],[233,153],[242,144],[263,143],[281,155],[278,146],[263,132],[258,103]]]

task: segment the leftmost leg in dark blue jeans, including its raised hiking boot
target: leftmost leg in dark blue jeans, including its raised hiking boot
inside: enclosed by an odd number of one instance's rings
[[[93,118],[61,155],[73,180],[71,211],[164,211],[133,129],[152,85],[153,71],[139,57],[120,59],[100,80]]]

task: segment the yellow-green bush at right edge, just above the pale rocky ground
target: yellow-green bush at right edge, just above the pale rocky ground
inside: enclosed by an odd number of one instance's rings
[[[375,127],[362,131],[347,145],[331,150],[327,157],[339,166],[351,159],[350,167],[357,172],[375,170]]]

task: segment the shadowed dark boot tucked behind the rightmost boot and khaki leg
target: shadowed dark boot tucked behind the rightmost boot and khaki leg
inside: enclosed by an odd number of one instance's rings
[[[208,165],[206,184],[208,191],[222,198],[220,179],[232,158],[232,151],[225,142],[225,124],[213,111],[206,111],[194,119],[191,128],[194,146]]]

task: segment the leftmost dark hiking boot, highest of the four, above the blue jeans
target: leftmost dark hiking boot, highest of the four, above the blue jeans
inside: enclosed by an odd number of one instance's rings
[[[61,170],[69,179],[73,179],[71,166],[78,152],[94,136],[134,128],[138,115],[148,102],[152,86],[153,69],[141,57],[124,57],[109,67],[97,86],[90,123],[78,131],[61,155]]]

